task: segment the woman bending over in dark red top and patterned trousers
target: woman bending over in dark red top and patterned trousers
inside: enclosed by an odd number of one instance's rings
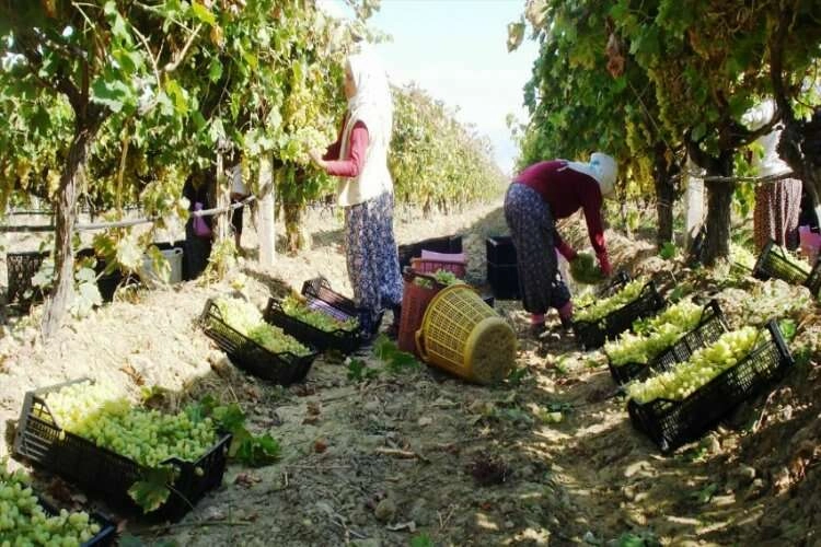
[[[556,220],[585,211],[588,235],[604,276],[612,267],[604,246],[601,208],[613,194],[616,163],[595,152],[589,163],[553,160],[535,163],[513,178],[505,196],[505,220],[516,247],[522,305],[531,314],[531,333],[545,329],[545,313],[558,310],[562,325],[570,326],[570,292],[558,274],[557,249],[568,261],[576,252],[559,236]]]

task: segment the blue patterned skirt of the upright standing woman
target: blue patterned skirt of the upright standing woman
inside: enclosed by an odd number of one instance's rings
[[[345,208],[345,255],[357,305],[375,314],[402,303],[393,194]]]

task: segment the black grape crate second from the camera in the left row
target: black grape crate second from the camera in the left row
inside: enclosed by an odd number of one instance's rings
[[[213,300],[206,302],[199,317],[203,331],[217,342],[236,366],[245,372],[280,385],[290,385],[304,380],[311,370],[316,351],[307,356],[291,352],[273,353],[229,326]]]

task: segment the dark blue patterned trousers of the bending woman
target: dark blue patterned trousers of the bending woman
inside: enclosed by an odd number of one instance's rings
[[[556,264],[551,208],[536,190],[513,183],[505,196],[505,220],[516,247],[522,306],[543,314],[570,300]]]

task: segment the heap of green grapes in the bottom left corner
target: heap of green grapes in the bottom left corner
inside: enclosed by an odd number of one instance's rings
[[[9,473],[8,462],[0,459],[0,545],[79,547],[100,533],[85,512],[47,514],[30,482],[25,473]]]

